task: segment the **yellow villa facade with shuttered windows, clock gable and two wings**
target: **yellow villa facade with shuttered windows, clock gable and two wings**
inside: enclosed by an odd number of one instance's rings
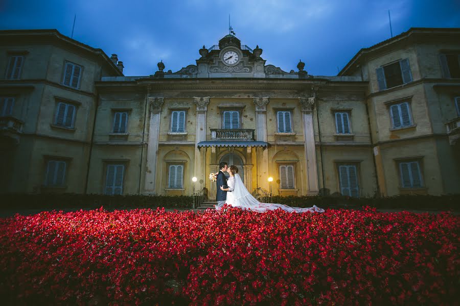
[[[136,77],[55,30],[0,37],[1,192],[213,198],[221,161],[254,194],[460,192],[460,29],[412,28],[332,77],[233,35]]]

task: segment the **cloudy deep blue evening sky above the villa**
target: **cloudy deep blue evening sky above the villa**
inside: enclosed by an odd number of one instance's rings
[[[411,27],[460,28],[460,0],[0,0],[0,29],[57,29],[116,53],[125,75],[196,64],[198,49],[228,34],[228,14],[242,44],[263,49],[266,64],[336,75],[362,47]]]

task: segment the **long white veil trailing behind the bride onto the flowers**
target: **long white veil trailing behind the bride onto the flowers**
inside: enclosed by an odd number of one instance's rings
[[[234,197],[232,206],[240,207],[242,209],[249,209],[258,213],[264,213],[268,210],[277,210],[279,208],[289,213],[324,212],[324,209],[316,207],[315,205],[309,208],[298,208],[283,204],[261,203],[254,196],[252,196],[249,191],[247,191],[238,173],[235,174],[235,188],[232,193]]]

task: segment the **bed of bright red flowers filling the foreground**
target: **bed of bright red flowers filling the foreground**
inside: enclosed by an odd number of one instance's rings
[[[132,210],[0,219],[0,300],[16,304],[449,304],[450,213]]]

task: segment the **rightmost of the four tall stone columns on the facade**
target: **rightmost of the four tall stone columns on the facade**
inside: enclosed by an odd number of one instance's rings
[[[299,98],[302,108],[302,121],[304,124],[305,138],[305,158],[307,164],[307,182],[308,195],[316,195],[319,193],[318,187],[318,170],[316,166],[316,146],[315,134],[313,129],[313,108],[315,106],[315,97]]]

